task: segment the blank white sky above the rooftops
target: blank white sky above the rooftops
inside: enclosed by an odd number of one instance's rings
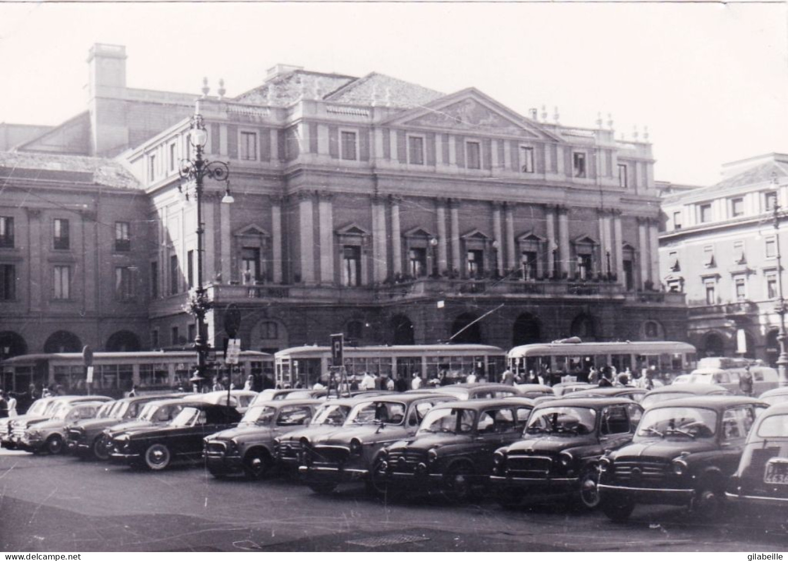
[[[126,46],[127,84],[255,87],[283,62],[376,71],[440,92],[474,86],[523,115],[616,137],[649,127],[656,179],[707,185],[720,165],[788,152],[786,3],[0,4],[0,122],[84,110],[87,51]]]

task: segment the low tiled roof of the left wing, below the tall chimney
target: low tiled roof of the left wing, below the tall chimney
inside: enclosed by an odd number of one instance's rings
[[[0,151],[0,176],[142,189],[139,181],[120,163],[87,156]]]

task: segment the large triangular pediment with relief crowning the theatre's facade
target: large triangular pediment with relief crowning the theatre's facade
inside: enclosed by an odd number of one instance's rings
[[[476,88],[435,99],[382,124],[455,133],[461,131],[466,134],[560,140],[537,122],[515,113]]]

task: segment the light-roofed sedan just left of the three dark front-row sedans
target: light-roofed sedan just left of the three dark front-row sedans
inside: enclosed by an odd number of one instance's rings
[[[304,483],[318,493],[332,492],[345,481],[370,484],[378,451],[413,436],[426,413],[438,403],[454,401],[444,393],[381,395],[356,404],[339,430],[302,442]]]

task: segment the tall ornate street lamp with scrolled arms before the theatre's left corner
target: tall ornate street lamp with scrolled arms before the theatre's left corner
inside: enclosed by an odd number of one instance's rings
[[[208,133],[205,129],[205,122],[203,122],[203,115],[199,112],[199,100],[195,105],[195,114],[191,115],[190,141],[195,148],[195,158],[182,159],[178,170],[180,179],[189,181],[189,185],[185,188],[183,185],[178,185],[178,190],[184,193],[188,200],[189,189],[193,186],[195,203],[197,204],[197,230],[195,230],[197,233],[197,286],[195,286],[193,292],[190,291],[188,311],[197,319],[197,333],[194,342],[195,350],[197,351],[197,372],[190,381],[201,389],[202,384],[205,382],[206,357],[210,347],[207,341],[205,316],[213,306],[213,302],[209,300],[203,286],[203,234],[205,234],[203,225],[203,180],[210,178],[214,181],[224,181],[225,196],[221,202],[232,203],[234,201],[230,194],[229,164],[225,162],[209,162],[203,159],[203,149],[208,142]]]

